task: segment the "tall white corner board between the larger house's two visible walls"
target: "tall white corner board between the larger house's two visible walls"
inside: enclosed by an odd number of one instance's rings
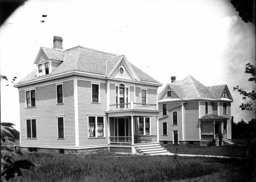
[[[75,146],[79,146],[79,123],[78,123],[79,120],[78,120],[78,88],[77,88],[77,79],[73,80],[73,84],[74,84]]]

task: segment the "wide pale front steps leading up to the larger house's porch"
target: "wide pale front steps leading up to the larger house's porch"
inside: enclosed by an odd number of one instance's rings
[[[170,154],[164,147],[159,143],[151,144],[150,146],[137,146],[136,150],[144,155],[168,155]]]

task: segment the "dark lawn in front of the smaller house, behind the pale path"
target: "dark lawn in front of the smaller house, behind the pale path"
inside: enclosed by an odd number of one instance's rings
[[[240,146],[163,146],[171,153],[195,155],[224,155],[243,157],[246,154]]]

